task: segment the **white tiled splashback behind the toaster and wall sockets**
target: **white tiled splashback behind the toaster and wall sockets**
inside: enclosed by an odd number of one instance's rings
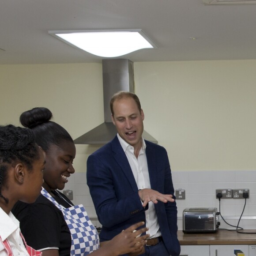
[[[182,230],[182,213],[187,207],[217,207],[216,188],[249,188],[245,211],[239,223],[244,229],[256,229],[256,170],[172,171],[174,189],[185,189],[186,199],[177,200],[178,229]],[[83,204],[90,218],[96,218],[94,205],[86,184],[86,173],[74,173],[68,178],[64,190],[73,191],[73,203]],[[245,204],[244,199],[222,199],[221,214],[236,226]],[[98,221],[93,221],[100,226]],[[221,220],[220,228],[232,228]]]

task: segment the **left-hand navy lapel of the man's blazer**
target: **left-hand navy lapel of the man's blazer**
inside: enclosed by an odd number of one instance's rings
[[[138,191],[138,186],[133,176],[132,169],[130,167],[128,159],[124,153],[123,148],[120,145],[120,142],[117,136],[112,140],[111,144],[112,144],[112,150],[114,152],[114,158],[117,161],[118,165],[120,166],[121,171],[127,177],[129,183],[132,186],[133,191],[135,192]]]

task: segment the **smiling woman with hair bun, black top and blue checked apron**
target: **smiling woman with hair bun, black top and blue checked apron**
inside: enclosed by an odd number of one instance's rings
[[[19,202],[13,209],[28,245],[40,250],[43,256],[141,254],[148,237],[141,235],[148,230],[141,228],[144,222],[130,226],[99,247],[98,232],[83,206],[74,206],[58,191],[64,189],[75,172],[75,144],[62,126],[51,121],[52,116],[49,109],[34,108],[20,117],[21,124],[34,132],[46,160],[41,195],[35,203]]]

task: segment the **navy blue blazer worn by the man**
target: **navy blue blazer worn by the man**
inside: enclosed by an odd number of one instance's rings
[[[164,147],[145,141],[151,189],[174,197],[169,159]],[[112,239],[129,226],[144,221],[145,211],[128,159],[115,138],[87,159],[87,184],[99,222],[101,241]],[[175,197],[174,197],[175,198]],[[176,202],[154,204],[164,244],[170,255],[180,254]]]

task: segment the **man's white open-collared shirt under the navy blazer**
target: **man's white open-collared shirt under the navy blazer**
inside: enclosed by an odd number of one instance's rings
[[[134,147],[128,144],[117,134],[121,147],[126,154],[128,162],[131,166],[133,176],[139,189],[151,188],[148,167],[147,167],[147,156],[146,156],[146,144],[142,138],[142,147],[139,151],[139,156],[136,158],[134,154]],[[149,228],[147,233],[150,234],[150,238],[160,237],[162,234],[159,229],[158,218],[155,212],[154,203],[148,203],[148,210],[145,211],[146,215],[146,226]]]

